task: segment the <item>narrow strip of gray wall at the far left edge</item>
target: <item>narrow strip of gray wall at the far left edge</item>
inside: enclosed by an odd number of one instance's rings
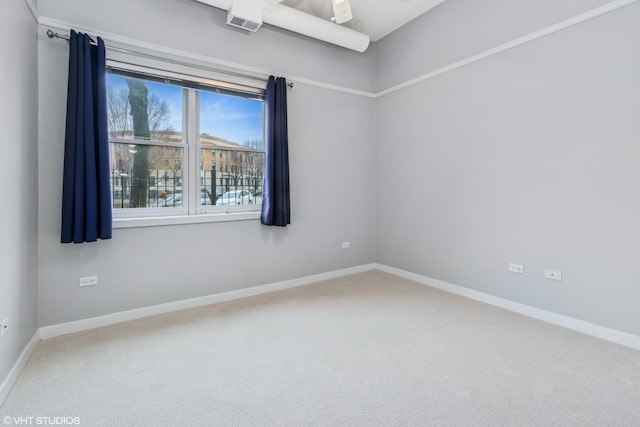
[[[4,175],[0,321],[9,330],[0,338],[0,382],[37,328],[37,55],[36,22],[24,0],[3,2],[0,14],[3,82],[2,155]]]

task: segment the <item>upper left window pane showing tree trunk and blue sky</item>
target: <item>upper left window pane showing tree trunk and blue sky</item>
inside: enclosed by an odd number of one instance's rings
[[[107,74],[109,135],[182,142],[182,91],[178,86]]]

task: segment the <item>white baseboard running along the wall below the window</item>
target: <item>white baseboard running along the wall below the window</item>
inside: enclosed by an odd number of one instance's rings
[[[213,295],[207,295],[204,297],[169,302],[166,304],[143,307],[135,310],[121,311],[118,313],[107,314],[104,316],[93,317],[90,319],[78,320],[75,322],[44,326],[40,328],[40,338],[41,339],[53,338],[60,335],[72,334],[74,332],[80,332],[88,329],[99,328],[101,326],[112,325],[115,323],[126,322],[129,320],[140,319],[148,316],[155,316],[157,314],[164,314],[164,313],[169,313],[177,310],[201,307],[204,305],[215,304],[217,302],[231,301],[239,298],[245,298],[245,297],[250,297],[254,295],[260,295],[260,294],[266,294],[269,292],[279,291],[282,289],[295,288],[297,286],[308,285],[308,284],[320,282],[323,280],[335,279],[337,277],[347,276],[349,274],[356,274],[356,273],[362,273],[364,271],[374,270],[375,268],[376,268],[376,264],[365,264],[357,267],[350,267],[342,270],[331,271],[328,273],[302,277],[299,279],[286,280],[283,282],[255,286],[247,289],[239,289],[237,291],[223,292],[220,294],[213,294]]]

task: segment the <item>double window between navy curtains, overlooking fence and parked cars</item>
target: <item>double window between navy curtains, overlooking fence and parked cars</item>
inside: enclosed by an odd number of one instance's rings
[[[259,212],[264,90],[141,69],[107,74],[114,218]]]

